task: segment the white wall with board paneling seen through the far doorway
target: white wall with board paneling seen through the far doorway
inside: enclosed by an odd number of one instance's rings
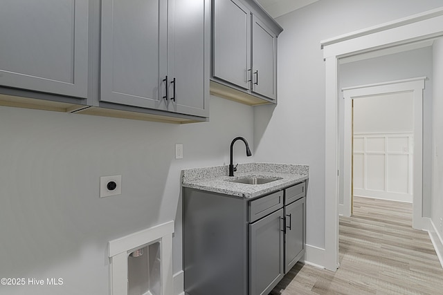
[[[412,202],[413,93],[353,99],[353,112],[354,196]]]

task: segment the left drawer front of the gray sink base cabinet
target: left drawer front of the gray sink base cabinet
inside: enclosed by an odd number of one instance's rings
[[[283,207],[283,191],[249,202],[249,222],[254,222]]]

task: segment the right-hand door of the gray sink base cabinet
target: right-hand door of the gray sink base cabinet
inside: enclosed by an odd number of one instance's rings
[[[284,207],[286,235],[284,236],[284,273],[305,254],[306,198],[300,198]]]

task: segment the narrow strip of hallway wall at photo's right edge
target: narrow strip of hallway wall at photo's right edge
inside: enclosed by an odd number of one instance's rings
[[[432,198],[431,220],[440,234],[440,255],[443,255],[443,39],[435,41],[433,46],[434,68],[433,75],[433,168],[432,168]],[[443,257],[440,262],[443,264]]]

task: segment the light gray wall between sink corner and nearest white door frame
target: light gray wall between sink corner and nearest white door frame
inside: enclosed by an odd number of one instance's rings
[[[278,106],[255,108],[257,161],[309,164],[307,244],[325,247],[325,63],[320,41],[442,6],[441,0],[321,0],[277,19]]]

